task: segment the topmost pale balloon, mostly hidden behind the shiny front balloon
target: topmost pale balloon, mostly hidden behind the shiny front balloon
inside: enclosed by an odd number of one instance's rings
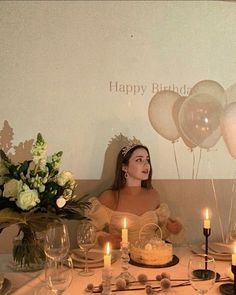
[[[195,84],[189,92],[189,96],[193,94],[206,93],[215,97],[224,107],[226,104],[226,94],[224,88],[216,81],[202,80]]]

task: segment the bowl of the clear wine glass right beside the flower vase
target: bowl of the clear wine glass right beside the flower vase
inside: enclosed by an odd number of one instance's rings
[[[47,257],[60,261],[70,250],[68,229],[62,221],[48,224],[44,241],[44,252]]]

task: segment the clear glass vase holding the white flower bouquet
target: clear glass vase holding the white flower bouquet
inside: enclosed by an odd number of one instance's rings
[[[43,269],[45,253],[43,237],[28,225],[20,225],[13,240],[13,267],[15,271],[36,271]]]

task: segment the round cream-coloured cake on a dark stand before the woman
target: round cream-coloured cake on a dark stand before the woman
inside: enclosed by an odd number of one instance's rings
[[[130,247],[130,258],[145,265],[164,265],[172,261],[173,247],[157,237],[148,241],[137,241]]]

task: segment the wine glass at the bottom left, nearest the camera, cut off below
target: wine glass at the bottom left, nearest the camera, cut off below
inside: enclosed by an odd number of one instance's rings
[[[73,262],[70,257],[56,261],[47,258],[45,264],[45,280],[49,289],[57,294],[63,294],[73,279]],[[46,293],[47,294],[47,293]]]

